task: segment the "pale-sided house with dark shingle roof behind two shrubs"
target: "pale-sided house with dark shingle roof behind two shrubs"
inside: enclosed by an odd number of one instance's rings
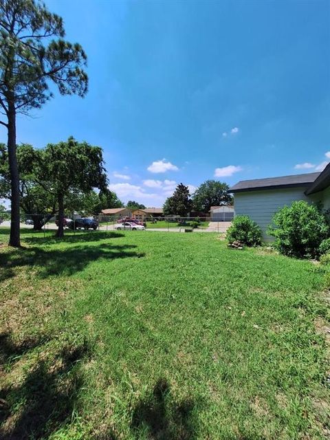
[[[307,173],[266,179],[242,180],[230,188],[234,194],[235,215],[248,215],[266,234],[274,213],[293,201],[305,200],[322,203],[323,209],[330,208],[330,164],[322,173]]]

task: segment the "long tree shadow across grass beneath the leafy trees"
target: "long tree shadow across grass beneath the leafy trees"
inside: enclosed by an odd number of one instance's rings
[[[16,274],[19,267],[28,266],[36,270],[37,276],[46,278],[52,275],[70,276],[80,272],[98,259],[111,261],[114,259],[141,258],[143,252],[132,249],[136,245],[112,245],[99,243],[97,245],[77,245],[63,250],[45,250],[28,248],[0,253],[0,281],[4,281]]]

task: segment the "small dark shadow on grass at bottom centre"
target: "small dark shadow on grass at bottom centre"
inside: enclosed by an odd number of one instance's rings
[[[148,432],[151,440],[193,440],[197,436],[194,407],[190,399],[173,403],[168,382],[160,379],[153,394],[135,406],[131,429],[136,439]]]

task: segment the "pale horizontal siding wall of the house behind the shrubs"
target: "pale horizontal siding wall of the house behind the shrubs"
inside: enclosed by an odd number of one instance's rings
[[[289,206],[293,201],[306,200],[311,202],[311,199],[304,194],[305,189],[287,188],[283,190],[237,192],[234,194],[235,215],[248,215],[260,226],[264,239],[272,240],[272,237],[267,235],[266,231],[272,223],[273,215],[279,208],[285,205]]]

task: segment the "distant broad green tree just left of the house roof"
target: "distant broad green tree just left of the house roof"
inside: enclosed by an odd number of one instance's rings
[[[194,195],[192,203],[194,209],[201,212],[210,212],[211,206],[232,204],[232,196],[228,193],[229,186],[217,180],[206,180],[201,184]]]

